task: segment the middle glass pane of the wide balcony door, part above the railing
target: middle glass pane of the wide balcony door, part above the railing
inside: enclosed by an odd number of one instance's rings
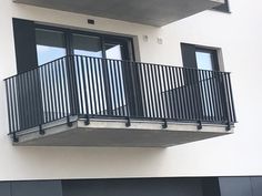
[[[73,53],[77,55],[102,58],[100,38],[73,34]]]

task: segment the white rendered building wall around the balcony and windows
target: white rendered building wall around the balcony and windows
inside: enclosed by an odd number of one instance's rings
[[[14,4],[0,4],[0,179],[262,175],[262,2],[230,0],[232,14],[205,11],[157,29]],[[3,79],[16,73],[11,18],[138,35],[141,60],[182,64],[180,42],[222,48],[232,72],[239,123],[235,134],[167,149],[14,147],[8,133]],[[149,37],[143,42],[142,35]],[[163,39],[163,44],[157,43]]]

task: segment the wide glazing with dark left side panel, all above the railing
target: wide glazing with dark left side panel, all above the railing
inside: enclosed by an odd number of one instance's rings
[[[41,25],[22,19],[13,19],[13,32],[19,73],[71,54],[134,59],[131,38]]]

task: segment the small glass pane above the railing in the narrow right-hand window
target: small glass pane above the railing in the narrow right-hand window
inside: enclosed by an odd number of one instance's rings
[[[212,54],[210,52],[195,52],[198,69],[213,70]]]

